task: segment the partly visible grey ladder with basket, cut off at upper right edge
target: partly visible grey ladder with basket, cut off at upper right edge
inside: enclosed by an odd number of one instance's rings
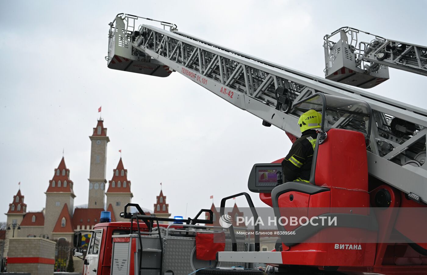
[[[325,35],[325,77],[360,88],[389,79],[388,67],[427,76],[427,47],[343,27]]]

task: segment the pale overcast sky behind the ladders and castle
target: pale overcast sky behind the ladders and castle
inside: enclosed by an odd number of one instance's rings
[[[173,215],[194,216],[247,189],[255,163],[284,157],[285,133],[179,73],[150,77],[107,68],[108,23],[125,12],[173,22],[208,41],[324,77],[323,36],[352,26],[427,45],[426,1],[0,1],[0,211],[18,191],[27,209],[65,162],[74,205],[88,202],[91,143],[102,105],[107,180],[122,150],[132,202],[153,208],[163,182]],[[412,3],[411,3],[412,2]],[[158,26],[154,22],[143,22]],[[369,91],[427,107],[427,78],[390,69]],[[255,205],[263,206],[252,193]],[[237,205],[245,206],[243,199]],[[6,216],[0,218],[6,220]]]

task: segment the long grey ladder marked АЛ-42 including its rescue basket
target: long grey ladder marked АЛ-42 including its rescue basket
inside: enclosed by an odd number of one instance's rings
[[[172,24],[162,23],[170,30],[149,25],[129,28],[127,22],[137,19],[120,14],[110,23],[108,67],[161,77],[177,71],[261,118],[263,125],[274,125],[295,137],[301,135],[297,124],[301,112],[292,108],[292,102],[316,92],[363,100],[373,111],[370,175],[427,202],[426,110],[204,41],[178,32]],[[343,121],[333,114],[324,119],[326,126],[368,136],[358,120]],[[281,141],[266,137],[257,142]]]

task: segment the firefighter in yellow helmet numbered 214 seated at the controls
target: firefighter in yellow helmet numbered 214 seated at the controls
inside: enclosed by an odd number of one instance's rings
[[[314,110],[309,110],[299,117],[298,125],[302,135],[295,140],[288,155],[282,161],[283,182],[310,183],[314,147],[321,121],[322,114]]]

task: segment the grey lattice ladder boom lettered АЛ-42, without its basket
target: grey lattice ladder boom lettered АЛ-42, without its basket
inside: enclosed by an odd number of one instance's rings
[[[425,137],[423,133],[427,129],[426,110],[292,70],[176,31],[141,25],[139,32],[141,35],[138,39],[143,39],[143,42],[133,41],[132,50],[144,53],[155,60],[156,64],[164,64],[169,70],[184,75],[227,102],[295,137],[301,136],[297,124],[301,112],[292,108],[288,110],[290,106],[283,106],[283,102],[279,104],[276,94],[278,87],[286,88],[290,102],[304,99],[316,92],[367,102],[376,114],[371,128],[371,146],[368,146],[369,159],[373,160],[369,163],[369,173],[406,193],[415,193],[427,202],[425,167],[408,168],[408,165],[401,162],[405,158],[413,158],[413,155],[392,151],[392,148],[405,144],[409,146],[408,152],[420,152],[420,143],[426,143],[421,138]],[[109,56],[114,56],[114,53],[109,52]],[[132,56],[124,57],[138,60],[138,56],[132,53]],[[393,136],[390,121],[394,118],[414,125],[416,139],[409,134]],[[339,118],[328,116],[325,119],[329,126],[340,125],[340,122],[337,123]],[[341,124],[344,124],[345,129],[363,132],[363,128],[352,125],[351,121]],[[266,138],[266,142],[274,141]],[[388,147],[377,146],[381,142],[387,143]],[[390,154],[396,156],[389,159]],[[399,177],[389,176],[388,165],[394,167],[393,173],[400,171],[405,175],[405,183]]]

